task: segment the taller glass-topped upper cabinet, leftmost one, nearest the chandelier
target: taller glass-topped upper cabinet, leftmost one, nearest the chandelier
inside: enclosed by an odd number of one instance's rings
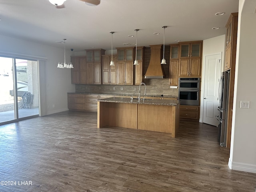
[[[86,50],[87,84],[102,84],[102,55],[104,49]]]

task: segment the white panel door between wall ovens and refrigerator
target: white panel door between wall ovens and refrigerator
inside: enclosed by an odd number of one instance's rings
[[[203,123],[218,126],[218,85],[221,70],[221,54],[205,57]]]

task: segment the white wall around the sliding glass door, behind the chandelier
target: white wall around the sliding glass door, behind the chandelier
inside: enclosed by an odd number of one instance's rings
[[[71,84],[70,69],[56,67],[58,62],[64,62],[64,47],[55,48],[2,35],[0,42],[1,54],[46,59],[46,114],[68,110],[67,92],[74,92],[75,86]],[[66,51],[66,62],[70,62],[70,52]]]

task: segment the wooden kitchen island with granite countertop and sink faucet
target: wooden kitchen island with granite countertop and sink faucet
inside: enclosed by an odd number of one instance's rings
[[[111,97],[98,100],[97,128],[104,126],[171,133],[179,127],[178,100]]]

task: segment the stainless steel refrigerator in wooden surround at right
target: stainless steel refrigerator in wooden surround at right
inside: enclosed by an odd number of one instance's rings
[[[229,97],[230,70],[222,72],[219,81],[219,106],[217,119],[220,122],[219,141],[220,146],[226,147],[228,126],[228,97]]]

